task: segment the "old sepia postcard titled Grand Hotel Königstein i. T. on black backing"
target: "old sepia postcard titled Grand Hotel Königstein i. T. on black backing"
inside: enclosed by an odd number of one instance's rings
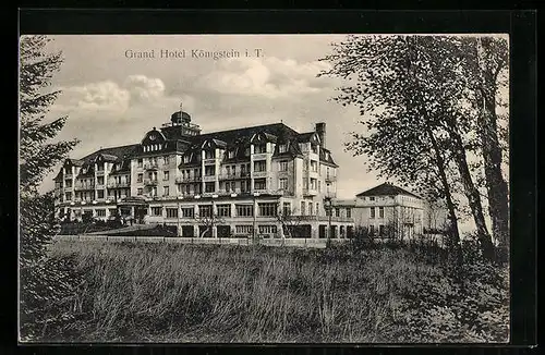
[[[508,343],[509,46],[20,36],[19,341]]]

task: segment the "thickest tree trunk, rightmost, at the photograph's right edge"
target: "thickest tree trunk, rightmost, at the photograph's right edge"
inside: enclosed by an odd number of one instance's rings
[[[484,160],[486,189],[488,193],[488,213],[492,219],[494,238],[500,246],[509,244],[509,201],[507,182],[501,174],[501,147],[499,146],[496,115],[496,81],[500,68],[489,68],[487,56],[491,38],[477,42],[477,58],[482,105],[479,115],[481,149]],[[484,56],[483,56],[484,54]],[[491,53],[487,53],[488,56]],[[501,64],[500,64],[501,65]]]

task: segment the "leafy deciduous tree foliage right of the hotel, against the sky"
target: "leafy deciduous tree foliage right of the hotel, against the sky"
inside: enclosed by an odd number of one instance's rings
[[[482,247],[489,255],[492,240],[481,193],[468,162],[469,151],[479,146],[473,137],[486,136],[482,134],[483,114],[475,114],[479,109],[473,99],[474,79],[480,74],[468,70],[468,58],[473,57],[464,56],[464,49],[471,52],[472,41],[475,39],[456,36],[349,36],[323,59],[331,62],[332,68],[319,75],[346,79],[334,99],[343,106],[358,107],[361,123],[366,126],[365,134],[353,133],[347,149],[368,156],[370,169],[379,175],[413,186],[431,199],[445,199],[455,245],[459,243],[460,212],[456,192],[462,191]],[[482,41],[489,44],[488,38]],[[486,91],[494,84],[481,81],[477,86]],[[494,118],[488,121],[494,123]],[[495,130],[492,131],[496,137]],[[482,149],[485,161],[500,151],[494,139],[488,140],[487,152]],[[494,163],[496,170],[488,166],[484,166],[485,172],[496,172],[500,163]],[[487,183],[494,185],[499,180],[487,178]],[[499,220],[507,221],[507,217]],[[493,224],[495,231],[499,229],[498,223]]]

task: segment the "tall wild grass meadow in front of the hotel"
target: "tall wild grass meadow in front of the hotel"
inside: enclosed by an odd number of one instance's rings
[[[58,241],[50,253],[84,282],[55,305],[73,319],[41,341],[508,341],[507,271],[481,261],[460,284],[408,248]]]

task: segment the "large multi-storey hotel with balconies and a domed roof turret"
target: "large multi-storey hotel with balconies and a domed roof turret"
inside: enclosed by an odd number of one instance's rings
[[[66,159],[55,178],[58,217],[178,227],[180,236],[350,236],[350,207],[329,212],[338,166],[326,124],[283,123],[202,134],[181,108],[140,144]],[[329,216],[331,215],[331,216]]]

